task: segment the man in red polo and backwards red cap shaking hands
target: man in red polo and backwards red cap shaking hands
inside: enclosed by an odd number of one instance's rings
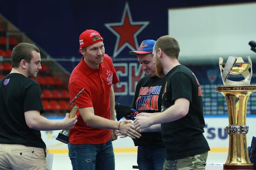
[[[111,58],[105,54],[103,38],[94,30],[79,37],[81,62],[68,82],[70,99],[85,88],[74,102],[79,107],[77,124],[69,134],[69,157],[73,170],[115,170],[113,130],[140,137],[133,124],[115,121],[115,95],[112,84],[119,82]]]

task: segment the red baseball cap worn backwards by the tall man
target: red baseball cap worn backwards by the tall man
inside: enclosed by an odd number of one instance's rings
[[[100,39],[94,40],[93,38],[95,36],[100,37]],[[85,30],[83,33],[80,34],[79,36],[79,44],[80,48],[90,46],[92,44],[95,44],[99,41],[103,41],[103,38],[101,37],[101,34],[95,30]]]

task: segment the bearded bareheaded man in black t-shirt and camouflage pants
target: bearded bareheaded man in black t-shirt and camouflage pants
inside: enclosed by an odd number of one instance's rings
[[[179,52],[179,44],[171,36],[157,39],[153,51],[156,75],[166,75],[163,109],[154,116],[138,114],[134,124],[140,130],[161,123],[167,149],[164,170],[204,170],[209,145],[202,134],[202,92],[195,74],[179,63]]]

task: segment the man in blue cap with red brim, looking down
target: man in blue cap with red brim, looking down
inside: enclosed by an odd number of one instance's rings
[[[136,85],[131,107],[152,115],[154,112],[161,111],[163,88],[166,82],[165,78],[156,76],[152,54],[154,45],[155,40],[147,39],[141,42],[138,51],[129,52],[131,55],[137,55],[141,69],[147,75]],[[134,139],[134,144],[138,146],[137,163],[140,170],[162,170],[166,151],[162,142],[160,124],[142,129],[141,137]]]

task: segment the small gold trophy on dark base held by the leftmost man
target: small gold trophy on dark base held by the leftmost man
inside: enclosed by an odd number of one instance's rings
[[[69,107],[70,105],[73,105],[74,101],[80,96],[80,94],[83,92],[84,88],[74,97],[74,99],[70,102],[70,104],[67,105],[67,107]],[[76,111],[78,110],[78,106],[77,105],[73,105],[68,118],[74,118]],[[58,137],[56,138],[56,140],[61,141],[65,144],[67,144],[69,142],[68,140],[69,137],[69,131],[68,130],[62,130]]]

